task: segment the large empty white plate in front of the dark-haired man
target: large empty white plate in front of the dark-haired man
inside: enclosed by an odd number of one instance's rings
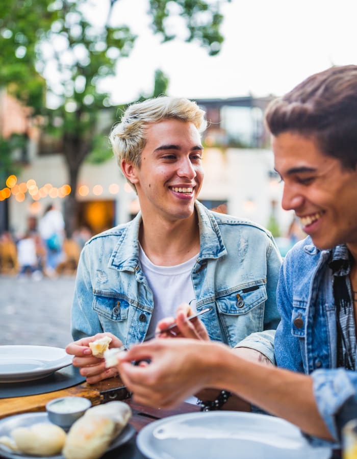
[[[273,416],[234,411],[181,414],[152,422],[137,445],[150,459],[327,459],[300,430]]]

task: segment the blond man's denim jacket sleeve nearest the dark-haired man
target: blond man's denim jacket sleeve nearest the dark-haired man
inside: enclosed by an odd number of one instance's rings
[[[280,320],[280,315],[276,307],[276,286],[281,264],[281,254],[275,241],[271,238],[267,252],[267,300],[264,311],[264,331],[257,331],[250,334],[235,346],[255,349],[264,354],[272,364],[275,364],[275,328]]]

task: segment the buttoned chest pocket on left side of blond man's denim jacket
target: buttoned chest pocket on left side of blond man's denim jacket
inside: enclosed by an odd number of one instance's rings
[[[99,316],[113,321],[123,321],[127,319],[129,312],[129,302],[117,293],[105,291],[93,291],[93,310]]]

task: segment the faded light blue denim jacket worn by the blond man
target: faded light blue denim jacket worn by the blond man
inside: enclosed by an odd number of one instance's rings
[[[191,277],[197,310],[212,340],[230,346],[279,322],[276,284],[281,257],[270,233],[247,220],[215,213],[196,201],[200,252]],[[144,340],[154,300],[139,265],[140,213],[94,236],[82,250],[72,307],[72,336],[109,331],[127,347]],[[179,304],[177,304],[179,305]],[[274,331],[246,347],[274,360]]]

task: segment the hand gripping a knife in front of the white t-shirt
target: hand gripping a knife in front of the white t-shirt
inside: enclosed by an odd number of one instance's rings
[[[159,338],[191,338],[195,340],[209,341],[205,325],[199,317],[187,320],[187,317],[194,314],[188,303],[182,303],[176,310],[176,317],[167,317],[158,322],[156,331],[160,332],[176,322],[177,326],[173,330],[164,331]],[[173,331],[173,333],[172,333]]]

